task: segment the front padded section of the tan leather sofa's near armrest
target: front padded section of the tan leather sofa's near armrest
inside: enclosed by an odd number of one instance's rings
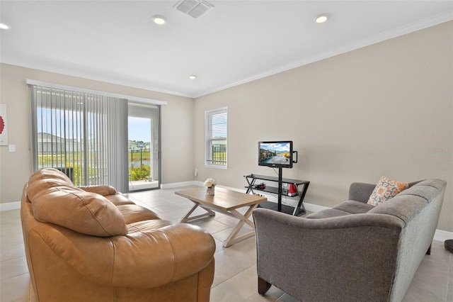
[[[115,248],[113,286],[168,284],[200,272],[212,262],[215,252],[212,235],[186,223],[111,239]]]

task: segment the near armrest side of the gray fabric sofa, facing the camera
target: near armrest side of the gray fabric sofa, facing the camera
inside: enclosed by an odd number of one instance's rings
[[[253,219],[260,279],[302,301],[388,300],[401,219],[305,219],[264,208],[254,210]]]

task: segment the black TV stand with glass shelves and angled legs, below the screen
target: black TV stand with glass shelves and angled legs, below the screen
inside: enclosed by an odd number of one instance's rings
[[[282,168],[279,168],[278,177],[269,177],[265,175],[258,175],[258,174],[250,174],[244,176],[247,179],[248,186],[246,186],[247,194],[253,194],[254,191],[263,191],[269,192],[273,194],[277,194],[278,201],[277,203],[265,201],[260,203],[258,207],[260,208],[270,208],[274,211],[279,211],[282,213],[287,213],[292,216],[300,216],[305,213],[304,207],[304,197],[306,194],[306,190],[309,188],[310,181],[304,181],[299,179],[287,179],[282,178]],[[260,189],[256,186],[257,180],[264,180],[264,181],[275,181],[277,183],[277,187],[266,185],[263,189]],[[297,188],[297,197],[299,197],[299,201],[297,206],[286,206],[282,204],[282,196],[290,196],[288,190],[284,190],[282,188],[283,184],[294,184]],[[303,186],[302,190],[299,190],[299,186]],[[296,196],[294,196],[296,197]]]

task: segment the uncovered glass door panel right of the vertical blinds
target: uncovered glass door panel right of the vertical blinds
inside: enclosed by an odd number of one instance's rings
[[[129,103],[129,191],[159,189],[159,106]]]

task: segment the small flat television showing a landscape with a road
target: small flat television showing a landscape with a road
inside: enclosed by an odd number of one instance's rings
[[[258,142],[258,166],[292,168],[292,141]]]

